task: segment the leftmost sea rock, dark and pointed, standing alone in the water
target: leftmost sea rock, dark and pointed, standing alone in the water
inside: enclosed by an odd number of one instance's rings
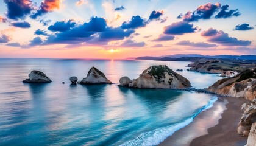
[[[52,82],[43,72],[31,71],[29,79],[23,80],[24,83],[50,83]]]

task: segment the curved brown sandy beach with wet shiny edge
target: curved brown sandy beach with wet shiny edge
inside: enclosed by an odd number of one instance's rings
[[[246,99],[218,97],[213,107],[196,116],[159,145],[245,145],[247,137],[236,133],[241,105]]]

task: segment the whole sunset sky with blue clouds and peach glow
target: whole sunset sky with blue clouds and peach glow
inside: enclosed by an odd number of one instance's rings
[[[255,7],[255,0],[1,0],[0,58],[256,55]]]

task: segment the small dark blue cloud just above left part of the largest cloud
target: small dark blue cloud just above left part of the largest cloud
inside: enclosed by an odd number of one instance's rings
[[[48,30],[52,32],[66,32],[73,28],[76,23],[73,20],[69,20],[68,22],[65,21],[57,21],[53,25],[48,27]]]

